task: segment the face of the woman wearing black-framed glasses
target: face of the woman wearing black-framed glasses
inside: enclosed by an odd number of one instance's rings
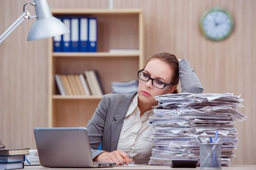
[[[173,71],[171,67],[166,63],[160,61],[159,59],[152,59],[151,61],[149,61],[145,69],[143,70],[143,73],[148,74],[152,79],[157,79],[163,83],[172,83]],[[157,103],[154,96],[171,94],[173,91],[175,91],[176,88],[177,85],[159,89],[152,85],[151,79],[149,79],[147,82],[139,79],[138,97],[141,102],[154,105],[155,103]]]

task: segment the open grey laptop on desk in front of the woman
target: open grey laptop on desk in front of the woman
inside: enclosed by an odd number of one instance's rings
[[[43,167],[115,167],[115,162],[93,162],[85,127],[34,129],[38,157]]]

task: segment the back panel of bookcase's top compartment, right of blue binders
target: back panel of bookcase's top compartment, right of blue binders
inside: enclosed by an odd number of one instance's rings
[[[60,15],[55,15],[58,17]],[[70,16],[70,14],[60,17]],[[71,15],[72,16],[72,15]],[[90,14],[73,15],[78,17],[96,17],[97,52],[108,52],[115,48],[139,48],[138,14]]]

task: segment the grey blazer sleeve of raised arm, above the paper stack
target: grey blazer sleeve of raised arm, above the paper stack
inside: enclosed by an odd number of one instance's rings
[[[179,62],[179,78],[183,93],[203,93],[204,88],[186,59],[181,59]]]

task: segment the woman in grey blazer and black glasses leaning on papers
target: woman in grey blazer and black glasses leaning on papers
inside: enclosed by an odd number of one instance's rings
[[[148,164],[152,137],[148,132],[154,96],[177,94],[180,79],[186,93],[203,93],[203,87],[189,62],[169,53],[156,54],[138,72],[139,85],[133,94],[106,94],[87,125],[93,161]],[[97,150],[102,142],[102,150]]]

